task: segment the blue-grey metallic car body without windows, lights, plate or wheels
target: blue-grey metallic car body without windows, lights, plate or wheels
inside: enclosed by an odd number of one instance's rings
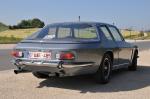
[[[61,40],[61,41],[47,41],[47,40],[30,40],[24,39],[14,50],[22,51],[24,56],[21,58],[13,58],[13,64],[15,64],[19,70],[27,71],[45,71],[51,74],[59,74],[59,76],[74,76],[81,74],[96,73],[103,56],[105,53],[109,53],[113,60],[113,69],[118,69],[122,66],[131,64],[133,54],[137,50],[137,46],[127,43],[119,30],[110,24],[99,22],[66,22],[55,23],[48,26],[59,25],[91,25],[95,28],[98,39],[89,41],[74,41],[74,40]],[[108,40],[103,31],[99,28],[105,26],[113,40]],[[116,41],[113,37],[109,27],[114,27],[118,30],[122,41]],[[36,33],[34,34],[36,35]],[[50,60],[29,59],[28,55],[31,51],[49,51],[51,52]],[[59,60],[57,54],[60,52],[74,53],[75,59],[73,60]]]

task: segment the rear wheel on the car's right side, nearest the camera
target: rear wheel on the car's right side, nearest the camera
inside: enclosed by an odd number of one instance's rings
[[[112,58],[109,54],[105,54],[100,67],[95,75],[96,81],[101,84],[106,84],[110,80],[112,72]]]

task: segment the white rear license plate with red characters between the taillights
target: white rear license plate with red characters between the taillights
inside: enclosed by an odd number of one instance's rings
[[[51,52],[29,52],[30,59],[51,60]]]

